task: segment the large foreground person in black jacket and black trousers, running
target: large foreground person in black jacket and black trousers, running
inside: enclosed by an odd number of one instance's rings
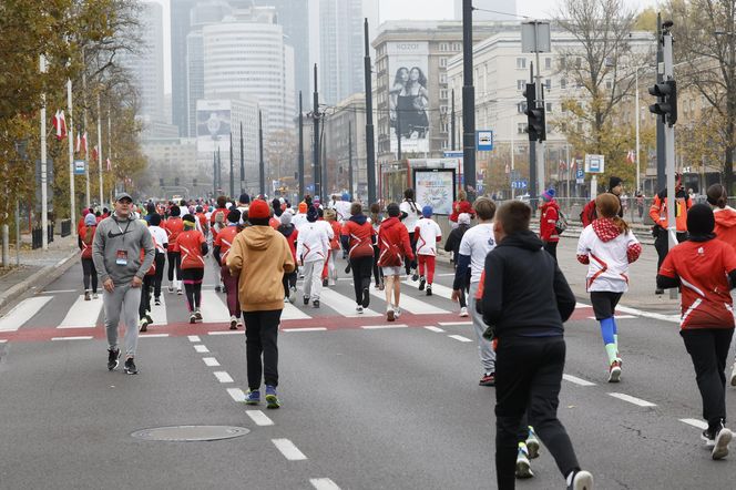
[[[493,224],[497,247],[485,257],[483,320],[498,339],[495,358],[495,472],[498,488],[514,488],[518,435],[528,410],[568,488],[590,490],[593,477],[577,463],[558,419],[565,343],[562,324],[575,297],[554,258],[529,229],[531,208],[501,206]]]

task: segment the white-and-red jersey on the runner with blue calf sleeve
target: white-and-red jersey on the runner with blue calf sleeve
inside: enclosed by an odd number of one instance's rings
[[[577,261],[587,264],[587,292],[625,293],[628,290],[628,264],[642,253],[631,229],[621,229],[610,218],[595,220],[577,241]]]

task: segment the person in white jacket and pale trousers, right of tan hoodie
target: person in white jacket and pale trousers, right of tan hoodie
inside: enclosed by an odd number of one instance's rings
[[[307,211],[307,222],[299,228],[296,242],[296,258],[304,266],[304,304],[319,308],[321,272],[329,251],[329,233],[317,220],[319,214],[314,206]]]

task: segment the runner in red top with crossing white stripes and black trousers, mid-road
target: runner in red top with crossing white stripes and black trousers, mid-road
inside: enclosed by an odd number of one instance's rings
[[[362,313],[370,305],[370,274],[374,266],[374,242],[376,232],[362,214],[360,203],[350,206],[350,220],[343,225],[340,236],[343,248],[348,251],[350,268],[352,269],[352,284],[355,286],[355,300],[358,304],[356,312]]]

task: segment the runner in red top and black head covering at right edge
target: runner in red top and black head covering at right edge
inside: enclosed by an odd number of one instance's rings
[[[714,239],[715,217],[706,204],[687,212],[689,239],[669,251],[660,267],[658,288],[679,287],[679,335],[693,359],[695,379],[703,399],[703,431],[713,459],[728,455],[733,437],[726,421],[726,358],[734,335],[730,289],[736,285],[734,248]]]

